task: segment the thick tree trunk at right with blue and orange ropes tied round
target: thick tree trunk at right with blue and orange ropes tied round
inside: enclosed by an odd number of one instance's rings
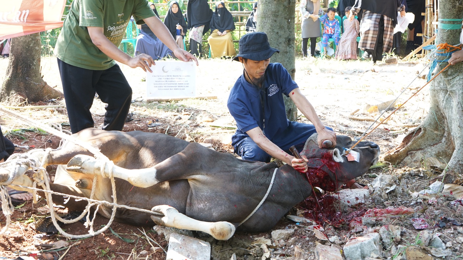
[[[463,2],[440,1],[439,18],[461,19]],[[449,22],[443,22],[449,23]],[[436,44],[460,43],[461,30],[438,29]],[[445,56],[437,56],[438,60]],[[439,62],[438,62],[439,64]],[[434,70],[438,73],[448,63],[442,62]],[[447,182],[461,179],[463,173],[463,63],[447,68],[430,84],[431,107],[424,122],[410,132],[402,143],[384,158],[393,164],[420,166],[423,159],[436,157],[448,163]]]

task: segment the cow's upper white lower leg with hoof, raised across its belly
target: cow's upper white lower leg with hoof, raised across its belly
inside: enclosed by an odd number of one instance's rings
[[[101,171],[103,169],[103,171]],[[115,166],[112,162],[97,160],[88,155],[75,155],[68,163],[66,170],[76,173],[98,174],[103,177],[113,176],[130,182],[131,185],[147,188],[158,184],[156,179],[156,168],[128,170]]]

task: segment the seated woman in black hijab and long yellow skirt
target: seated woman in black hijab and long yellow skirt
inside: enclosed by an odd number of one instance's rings
[[[224,2],[217,2],[211,19],[211,36],[207,39],[212,58],[236,56],[231,33],[233,30],[235,24],[232,14],[225,8]]]

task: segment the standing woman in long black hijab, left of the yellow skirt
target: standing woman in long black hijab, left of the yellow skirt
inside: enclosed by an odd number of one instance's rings
[[[212,14],[207,0],[188,0],[187,22],[190,29],[190,53],[193,55],[200,55],[202,36],[209,31]]]

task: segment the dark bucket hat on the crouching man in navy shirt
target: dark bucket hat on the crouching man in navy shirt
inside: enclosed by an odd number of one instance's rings
[[[275,52],[280,52],[280,50],[270,47],[265,32],[250,32],[239,39],[239,53],[233,58],[233,61],[238,61],[238,57],[252,61],[263,61],[270,58]]]

